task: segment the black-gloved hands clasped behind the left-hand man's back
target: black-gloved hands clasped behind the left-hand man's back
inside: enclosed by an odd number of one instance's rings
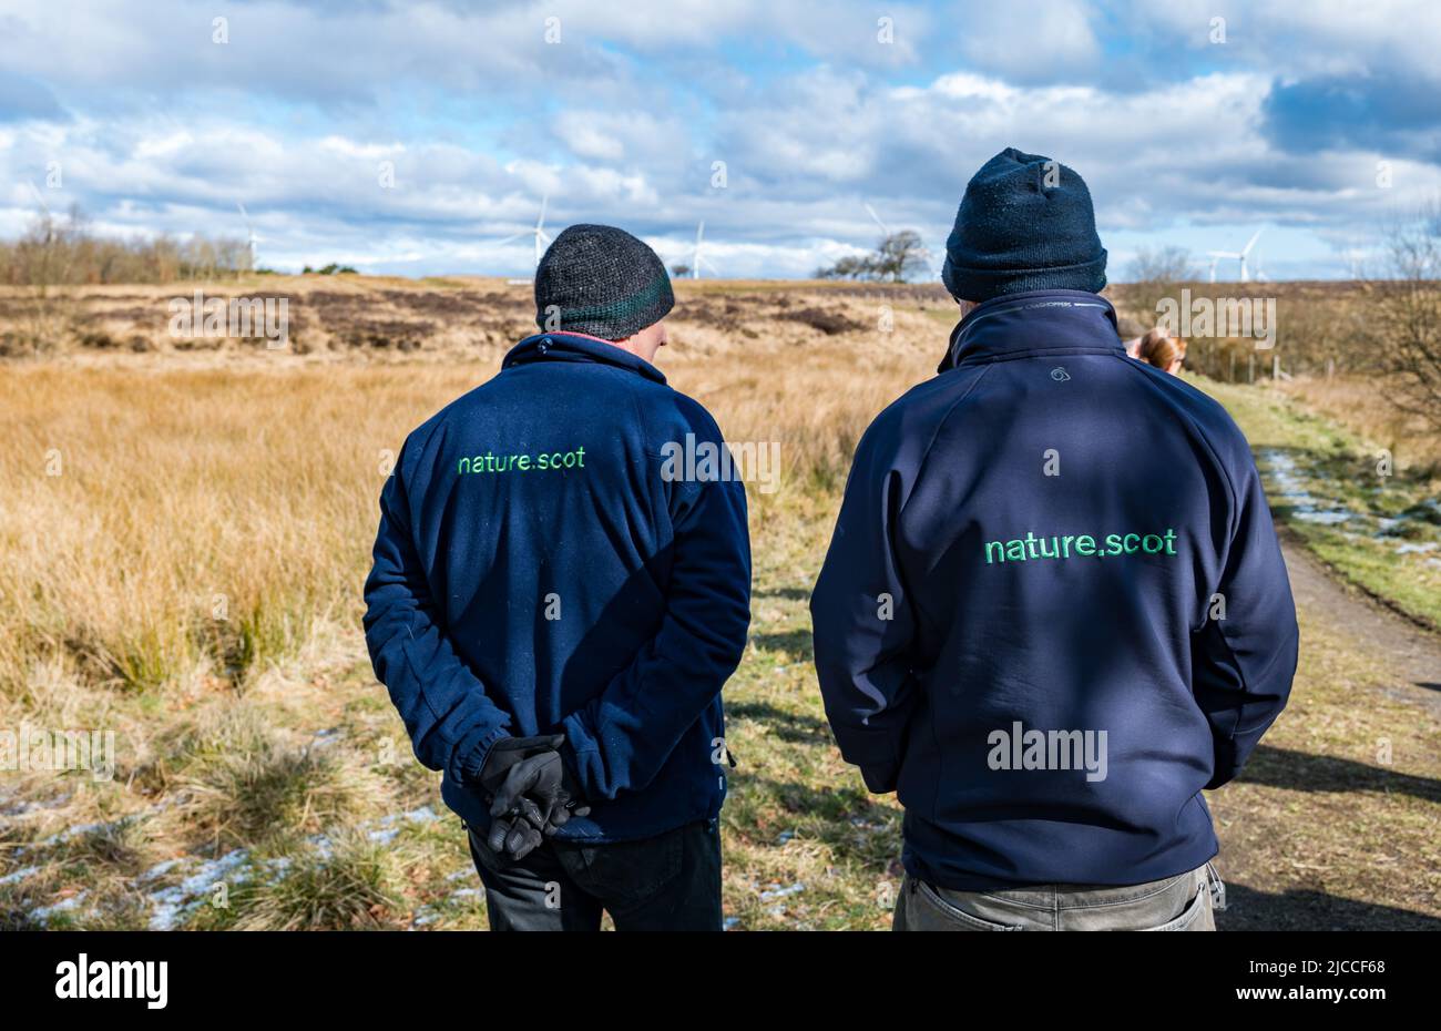
[[[522,859],[572,815],[591,812],[561,760],[562,744],[563,734],[550,734],[501,738],[491,747],[480,771],[490,800],[491,851]]]

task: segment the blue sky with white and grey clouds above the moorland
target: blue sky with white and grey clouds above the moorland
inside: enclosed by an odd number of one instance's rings
[[[244,203],[280,270],[525,274],[549,198],[794,277],[869,203],[938,267],[1016,146],[1085,176],[1112,278],[1262,226],[1271,278],[1329,278],[1441,196],[1438,52],[1434,0],[0,0],[0,235],[35,183],[105,234]]]

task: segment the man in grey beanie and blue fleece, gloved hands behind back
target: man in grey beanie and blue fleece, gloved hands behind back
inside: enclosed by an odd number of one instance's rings
[[[651,365],[674,303],[654,251],[572,226],[535,294],[542,332],[405,441],[366,643],[493,927],[719,930],[745,490],[667,461],[723,444]]]

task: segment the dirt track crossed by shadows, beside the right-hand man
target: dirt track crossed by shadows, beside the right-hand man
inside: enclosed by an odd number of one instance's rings
[[[1441,637],[1339,583],[1298,542],[1282,547],[1303,673],[1285,731],[1272,728],[1241,777],[1209,793],[1229,900],[1218,929],[1441,930]],[[1320,653],[1349,656],[1368,682],[1353,682],[1350,698],[1327,694],[1317,669],[1306,672],[1306,656]],[[1405,760],[1380,763],[1334,737],[1346,720],[1405,741]]]

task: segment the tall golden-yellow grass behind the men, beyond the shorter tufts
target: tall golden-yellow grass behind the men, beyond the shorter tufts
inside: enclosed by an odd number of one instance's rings
[[[758,345],[667,363],[787,476],[843,476],[916,353]],[[924,353],[924,352],[919,352]],[[375,500],[405,433],[473,365],[22,365],[0,379],[0,685],[37,666],[146,689],[245,676],[353,626]]]

